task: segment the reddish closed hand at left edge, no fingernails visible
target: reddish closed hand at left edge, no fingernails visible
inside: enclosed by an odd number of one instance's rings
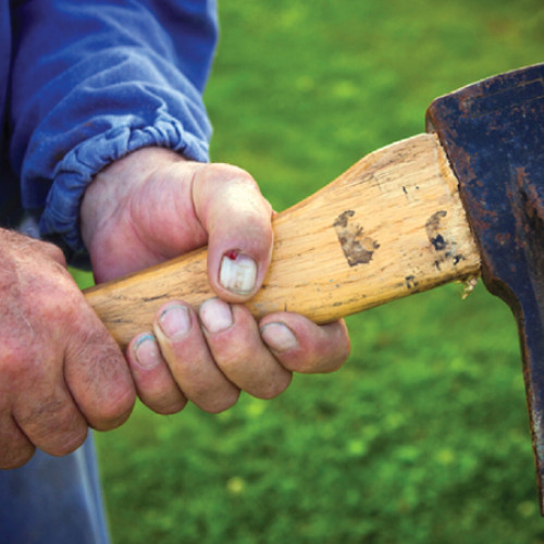
[[[135,391],[126,362],[51,244],[0,230],[0,468],[36,447],[61,456],[87,425],[121,424]]]

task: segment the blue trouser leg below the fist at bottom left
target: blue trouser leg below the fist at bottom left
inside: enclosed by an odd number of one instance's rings
[[[36,452],[0,470],[2,544],[106,544],[106,515],[92,437],[66,457]]]

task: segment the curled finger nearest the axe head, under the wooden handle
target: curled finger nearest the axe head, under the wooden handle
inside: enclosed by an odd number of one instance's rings
[[[333,372],[349,356],[349,336],[343,320],[319,326],[302,316],[281,312],[263,318],[260,331],[277,360],[294,372]]]

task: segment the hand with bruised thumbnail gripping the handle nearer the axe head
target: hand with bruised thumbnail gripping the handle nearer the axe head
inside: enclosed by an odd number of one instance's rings
[[[189,399],[217,412],[240,390],[271,398],[293,371],[329,372],[347,358],[344,322],[318,326],[281,312],[257,323],[240,304],[259,289],[270,264],[271,215],[243,170],[187,162],[164,149],[136,151],[88,187],[82,233],[98,282],[208,244],[208,279],[218,298],[198,310],[168,302],[153,331],[128,346],[138,394],[151,409],[173,413]]]

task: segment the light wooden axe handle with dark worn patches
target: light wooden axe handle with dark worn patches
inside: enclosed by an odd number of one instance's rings
[[[480,272],[457,180],[433,134],[364,157],[273,221],[274,248],[257,317],[279,310],[317,323]],[[170,299],[198,307],[214,296],[206,249],[85,292],[125,347]]]

